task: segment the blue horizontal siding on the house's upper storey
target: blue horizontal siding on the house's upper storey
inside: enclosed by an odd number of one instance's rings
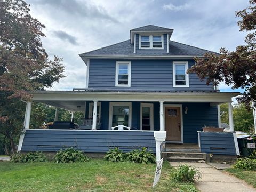
[[[213,90],[212,84],[207,86],[205,81],[200,81],[196,74],[189,74],[189,87],[174,88],[173,61],[131,60],[131,87],[115,87],[116,60],[91,59],[88,86],[94,89]],[[189,67],[193,66],[194,63],[194,60],[188,60]]]

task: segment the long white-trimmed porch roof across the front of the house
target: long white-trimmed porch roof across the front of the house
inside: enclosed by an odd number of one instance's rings
[[[231,102],[239,92],[110,92],[110,91],[36,91],[33,101],[71,111],[84,111],[85,101],[140,102]]]

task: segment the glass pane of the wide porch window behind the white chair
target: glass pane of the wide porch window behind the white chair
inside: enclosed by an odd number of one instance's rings
[[[128,126],[128,122],[129,122],[129,107],[113,106],[112,127],[117,125]]]

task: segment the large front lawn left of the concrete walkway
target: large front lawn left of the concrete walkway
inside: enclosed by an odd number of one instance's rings
[[[172,182],[168,162],[152,189],[155,168],[155,164],[102,159],[71,164],[0,162],[0,191],[197,191],[193,183]]]

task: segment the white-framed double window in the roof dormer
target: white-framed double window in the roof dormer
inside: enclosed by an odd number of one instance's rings
[[[163,35],[140,35],[139,49],[164,49]]]

